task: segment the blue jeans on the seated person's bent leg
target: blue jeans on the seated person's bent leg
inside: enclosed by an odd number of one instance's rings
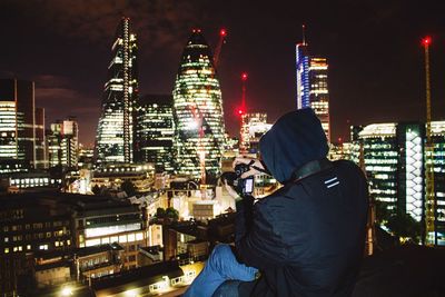
[[[251,281],[258,270],[240,264],[235,258],[228,245],[217,245],[210,254],[202,271],[195,278],[182,297],[211,297],[216,289],[226,280]],[[234,285],[236,281],[234,281]],[[226,288],[237,296],[237,285]]]

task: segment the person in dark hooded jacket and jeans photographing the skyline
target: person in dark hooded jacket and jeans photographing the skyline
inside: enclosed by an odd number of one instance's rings
[[[326,158],[326,136],[309,108],[280,117],[259,150],[261,160],[234,165],[251,165],[243,178],[267,169],[283,187],[258,200],[228,188],[237,208],[235,253],[216,246],[184,296],[350,296],[365,246],[363,171]]]

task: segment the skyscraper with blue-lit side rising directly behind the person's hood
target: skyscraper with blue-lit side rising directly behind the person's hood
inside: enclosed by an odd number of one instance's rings
[[[330,141],[328,63],[326,58],[309,56],[306,41],[296,46],[297,108],[312,107]]]

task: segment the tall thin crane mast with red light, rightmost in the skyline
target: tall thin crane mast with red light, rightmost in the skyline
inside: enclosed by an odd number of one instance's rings
[[[434,191],[434,141],[432,138],[432,112],[431,112],[431,79],[429,79],[429,44],[431,37],[425,37],[422,43],[425,49],[425,89],[426,89],[426,146],[425,146],[425,245],[437,245],[435,230],[436,195]],[[434,240],[432,239],[432,235]]]

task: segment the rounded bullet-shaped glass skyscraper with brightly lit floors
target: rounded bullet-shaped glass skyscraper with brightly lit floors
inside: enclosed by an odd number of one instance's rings
[[[217,176],[225,139],[222,99],[210,48],[198,29],[187,42],[176,77],[174,118],[177,171],[196,179]]]

